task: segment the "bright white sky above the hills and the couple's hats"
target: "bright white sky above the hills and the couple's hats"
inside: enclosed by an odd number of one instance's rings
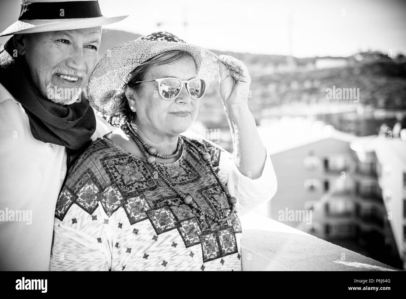
[[[209,49],[297,57],[349,56],[359,50],[406,55],[404,0],[99,0],[105,28],[171,31]],[[18,0],[0,0],[0,31],[17,20]],[[290,20],[290,21],[289,21]],[[185,27],[184,24],[187,23]],[[158,27],[158,23],[162,25]],[[5,38],[0,38],[4,42]]]

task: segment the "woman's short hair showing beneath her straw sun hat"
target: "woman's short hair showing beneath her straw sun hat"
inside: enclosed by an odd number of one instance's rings
[[[124,86],[123,94],[121,94],[121,103],[117,109],[117,116],[121,118],[121,120],[128,120],[130,122],[134,122],[136,118],[136,113],[131,111],[130,105],[128,105],[127,97],[125,96],[125,88],[128,86],[132,89],[133,92],[137,92],[140,87],[141,83],[136,83],[138,81],[144,81],[145,75],[154,65],[162,65],[168,63],[176,63],[177,61],[181,60],[186,55],[190,55],[186,51],[181,50],[172,50],[163,52],[157,56],[154,56],[144,63],[138,65],[132,72],[130,72],[129,80],[127,84]],[[192,57],[193,58],[193,57]],[[196,61],[193,59],[194,65],[197,69]]]

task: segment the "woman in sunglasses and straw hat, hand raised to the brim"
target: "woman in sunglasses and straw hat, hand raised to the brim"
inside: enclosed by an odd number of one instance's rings
[[[182,134],[219,74],[233,155]],[[69,170],[51,270],[241,270],[238,215],[276,192],[248,110],[250,82],[241,61],[167,32],[110,49],[87,92],[97,110],[124,124]]]

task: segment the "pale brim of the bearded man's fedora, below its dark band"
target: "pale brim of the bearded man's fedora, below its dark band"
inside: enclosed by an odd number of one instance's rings
[[[128,15],[118,17],[90,17],[80,19],[60,19],[60,20],[19,20],[14,22],[0,36],[38,33],[47,31],[73,30],[81,28],[92,28],[124,20]]]

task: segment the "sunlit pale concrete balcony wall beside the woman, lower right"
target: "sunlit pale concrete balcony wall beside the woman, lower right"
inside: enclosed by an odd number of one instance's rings
[[[257,213],[240,220],[243,271],[397,271]]]

